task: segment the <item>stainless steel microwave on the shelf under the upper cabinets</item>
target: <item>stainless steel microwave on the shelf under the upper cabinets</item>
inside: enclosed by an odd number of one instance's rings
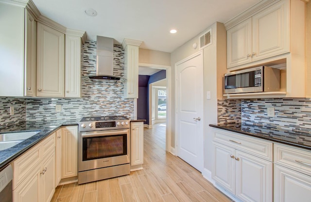
[[[280,90],[280,70],[260,66],[224,75],[224,94],[272,92]]]

